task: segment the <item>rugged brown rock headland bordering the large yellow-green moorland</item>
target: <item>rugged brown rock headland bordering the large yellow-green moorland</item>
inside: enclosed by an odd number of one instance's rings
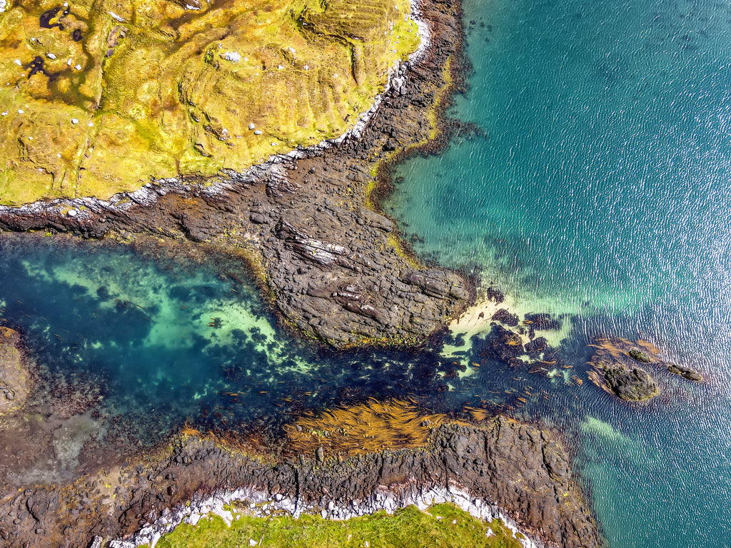
[[[426,1],[420,15],[430,47],[401,65],[358,138],[246,175],[229,172],[208,189],[188,180],[115,205],[80,199],[0,209],[0,229],[207,242],[249,260],[285,321],[313,338],[336,347],[420,343],[463,310],[469,283],[417,265],[391,221],[366,207],[379,161],[433,137],[429,120],[447,86],[447,61],[454,75],[461,70],[458,3]]]

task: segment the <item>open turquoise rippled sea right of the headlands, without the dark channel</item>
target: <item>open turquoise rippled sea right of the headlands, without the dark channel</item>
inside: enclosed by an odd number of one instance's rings
[[[474,73],[452,115],[486,137],[407,161],[387,210],[420,253],[576,314],[576,368],[605,334],[710,374],[647,407],[584,384],[563,416],[535,413],[577,433],[611,547],[727,546],[731,7],[467,0],[465,19]]]

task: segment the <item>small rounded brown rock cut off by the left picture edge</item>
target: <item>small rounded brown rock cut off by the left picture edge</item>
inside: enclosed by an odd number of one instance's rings
[[[0,327],[0,415],[23,405],[29,392],[29,373],[20,347],[20,335]]]

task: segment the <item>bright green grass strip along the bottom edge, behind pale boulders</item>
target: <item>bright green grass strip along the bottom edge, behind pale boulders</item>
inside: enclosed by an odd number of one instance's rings
[[[251,541],[254,541],[252,544]],[[511,530],[499,520],[482,522],[451,504],[436,504],[427,511],[415,506],[386,514],[345,521],[303,515],[251,517],[235,514],[231,527],[218,516],[198,525],[179,525],[162,536],[158,548],[325,548],[325,547],[450,547],[520,548]]]

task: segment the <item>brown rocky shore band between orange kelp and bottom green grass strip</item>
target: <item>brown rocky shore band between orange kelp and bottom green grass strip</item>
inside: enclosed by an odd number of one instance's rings
[[[369,453],[338,462],[250,457],[213,441],[182,438],[137,465],[86,477],[64,489],[34,487],[0,501],[0,537],[9,548],[44,539],[49,547],[87,546],[95,536],[132,535],[145,522],[196,496],[242,487],[313,509],[362,505],[385,491],[461,488],[495,505],[547,543],[602,545],[569,467],[546,430],[498,416],[480,426],[442,425],[429,449]],[[279,496],[278,496],[279,495]]]

